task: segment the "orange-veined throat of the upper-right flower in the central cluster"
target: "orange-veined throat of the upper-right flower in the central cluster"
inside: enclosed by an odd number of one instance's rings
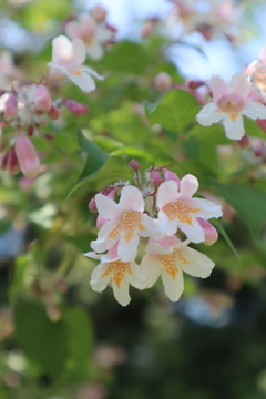
[[[184,200],[176,200],[164,205],[162,211],[168,216],[170,221],[177,218],[192,226],[193,217],[190,216],[190,214],[194,214],[201,209],[190,207]]]

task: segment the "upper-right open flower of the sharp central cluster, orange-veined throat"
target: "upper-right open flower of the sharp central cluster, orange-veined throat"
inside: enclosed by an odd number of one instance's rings
[[[197,222],[197,217],[208,219],[223,215],[219,205],[202,198],[192,198],[198,188],[195,176],[187,174],[178,184],[167,181],[161,184],[157,192],[158,219],[157,228],[164,234],[172,236],[177,227],[187,235],[193,243],[205,241],[204,228]]]

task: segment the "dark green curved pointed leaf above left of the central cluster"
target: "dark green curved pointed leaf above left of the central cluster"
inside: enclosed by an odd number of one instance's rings
[[[78,131],[78,139],[81,150],[86,154],[86,163],[78,181],[78,183],[82,183],[92,177],[103,166],[109,156],[98,145],[88,140],[80,130]]]

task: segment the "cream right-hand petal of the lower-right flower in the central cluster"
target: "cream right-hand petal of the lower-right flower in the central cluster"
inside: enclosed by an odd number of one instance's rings
[[[188,247],[182,248],[181,253],[184,258],[190,262],[188,265],[182,266],[185,273],[193,277],[202,278],[206,278],[211,275],[215,265],[206,255]]]

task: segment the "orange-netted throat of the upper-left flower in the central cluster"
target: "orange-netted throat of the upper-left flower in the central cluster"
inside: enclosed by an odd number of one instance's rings
[[[135,235],[135,231],[145,229],[141,224],[141,212],[123,211],[117,226],[109,233],[109,237],[115,237],[121,232],[124,232],[124,239],[129,243]]]

